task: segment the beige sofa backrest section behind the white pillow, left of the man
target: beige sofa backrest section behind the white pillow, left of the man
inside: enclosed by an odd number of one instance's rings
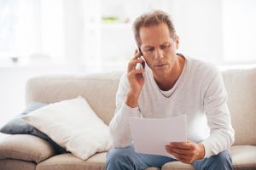
[[[32,77],[26,82],[26,104],[32,101],[54,103],[81,95],[97,116],[109,124],[115,110],[115,94],[121,75],[122,72],[113,71],[84,76]]]

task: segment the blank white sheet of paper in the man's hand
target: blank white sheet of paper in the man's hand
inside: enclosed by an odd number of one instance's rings
[[[187,141],[187,116],[130,118],[131,138],[136,152],[169,156],[166,144]]]

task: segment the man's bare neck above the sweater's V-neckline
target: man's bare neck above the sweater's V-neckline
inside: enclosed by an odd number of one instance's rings
[[[166,73],[161,73],[160,76],[154,75],[154,80],[161,90],[170,90],[177,82],[178,77],[180,77],[185,59],[177,55],[177,61],[172,66],[172,69]]]

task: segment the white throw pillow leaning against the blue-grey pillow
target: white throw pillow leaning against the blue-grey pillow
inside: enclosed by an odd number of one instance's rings
[[[112,147],[108,126],[81,96],[46,105],[22,118],[83,160]]]

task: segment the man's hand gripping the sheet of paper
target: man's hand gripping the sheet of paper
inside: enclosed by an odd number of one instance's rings
[[[205,156],[205,147],[203,144],[193,142],[172,142],[166,145],[166,151],[177,160],[183,163],[191,164],[195,160],[201,160]]]

